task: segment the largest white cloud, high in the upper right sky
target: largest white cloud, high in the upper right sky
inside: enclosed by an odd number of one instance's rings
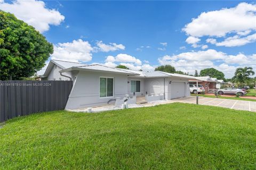
[[[248,33],[256,30],[256,5],[240,3],[233,8],[222,8],[217,11],[203,12],[185,25],[182,30],[194,37],[223,37],[227,33]]]

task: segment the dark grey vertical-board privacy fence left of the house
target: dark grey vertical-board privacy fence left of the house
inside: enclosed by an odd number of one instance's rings
[[[65,109],[73,81],[0,81],[0,122]]]

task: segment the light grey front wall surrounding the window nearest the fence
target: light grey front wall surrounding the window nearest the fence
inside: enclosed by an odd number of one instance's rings
[[[100,98],[100,77],[114,77],[114,97]],[[127,75],[79,71],[70,92],[66,109],[84,108],[107,104],[115,97],[124,97],[127,91]]]

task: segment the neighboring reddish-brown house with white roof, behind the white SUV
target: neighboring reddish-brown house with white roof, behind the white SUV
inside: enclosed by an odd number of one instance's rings
[[[217,79],[216,78],[211,78],[209,76],[206,77],[195,77],[197,80],[189,80],[190,84],[196,84],[198,81],[198,84],[202,84],[205,90],[205,93],[213,93],[214,90],[216,89],[216,84],[217,84]]]

